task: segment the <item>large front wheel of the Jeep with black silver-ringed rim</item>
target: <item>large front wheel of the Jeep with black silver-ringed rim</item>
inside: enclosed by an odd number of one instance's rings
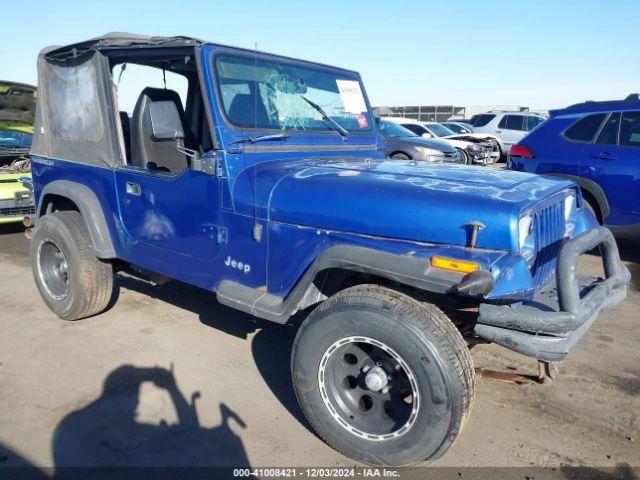
[[[372,358],[380,362],[367,370]],[[370,385],[378,367],[385,374]],[[353,375],[343,378],[349,369]],[[432,304],[377,285],[343,290],[311,312],[294,341],[291,371],[302,411],[319,436],[371,465],[443,455],[462,431],[475,390],[469,349],[449,318]],[[376,390],[382,385],[388,392]]]

